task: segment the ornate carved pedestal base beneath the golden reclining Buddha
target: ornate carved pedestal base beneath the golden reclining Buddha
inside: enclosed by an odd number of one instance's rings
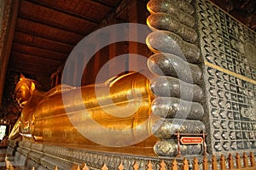
[[[35,169],[71,169],[74,164],[81,165],[86,163],[90,169],[102,169],[106,164],[108,169],[119,169],[122,163],[124,169],[133,169],[135,162],[139,169],[148,169],[149,161],[153,169],[160,169],[161,161],[164,161],[166,167],[171,168],[172,159],[168,157],[154,156],[152,148],[141,149],[121,149],[105,148],[102,146],[88,147],[90,149],[79,148],[76,146],[53,146],[47,144],[32,144],[30,142],[10,141],[9,154],[15,155],[15,160],[19,166],[35,167]],[[133,153],[132,153],[133,152]],[[193,156],[190,158],[192,161]],[[179,166],[183,158],[177,159]],[[21,165],[24,164],[24,165]]]

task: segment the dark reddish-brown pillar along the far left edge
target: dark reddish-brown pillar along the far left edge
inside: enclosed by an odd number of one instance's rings
[[[0,105],[6,71],[9,63],[9,54],[14,38],[16,18],[19,10],[19,0],[1,0],[0,7]]]

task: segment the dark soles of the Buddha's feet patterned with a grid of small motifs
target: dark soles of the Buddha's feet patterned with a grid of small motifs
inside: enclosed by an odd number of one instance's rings
[[[256,148],[256,34],[209,1],[196,2],[204,59],[208,150]]]

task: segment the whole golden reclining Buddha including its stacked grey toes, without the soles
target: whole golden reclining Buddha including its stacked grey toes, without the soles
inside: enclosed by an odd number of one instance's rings
[[[154,52],[148,71],[82,87],[61,84],[49,92],[20,77],[15,99],[23,110],[9,139],[148,147],[159,156],[201,154],[201,144],[177,147],[174,135],[205,131],[195,9],[182,2],[148,2],[147,24],[153,32],[146,43]]]

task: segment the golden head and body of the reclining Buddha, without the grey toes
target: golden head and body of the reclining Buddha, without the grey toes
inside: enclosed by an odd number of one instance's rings
[[[149,136],[150,122],[141,125],[150,115],[148,105],[154,98],[148,86],[147,77],[131,72],[103,84],[80,88],[58,85],[49,92],[41,92],[32,80],[21,76],[15,88],[15,99],[23,110],[9,139],[21,135],[23,139],[35,141],[93,144],[77,129],[83,129],[85,136],[93,135],[94,139],[97,136],[101,141],[108,139],[106,135],[109,134],[97,127],[118,131],[130,129],[131,133],[126,134]],[[63,95],[67,97],[65,105]],[[130,116],[125,116],[127,113]],[[143,130],[134,128],[139,125]],[[115,140],[109,145],[124,144],[124,140]]]

